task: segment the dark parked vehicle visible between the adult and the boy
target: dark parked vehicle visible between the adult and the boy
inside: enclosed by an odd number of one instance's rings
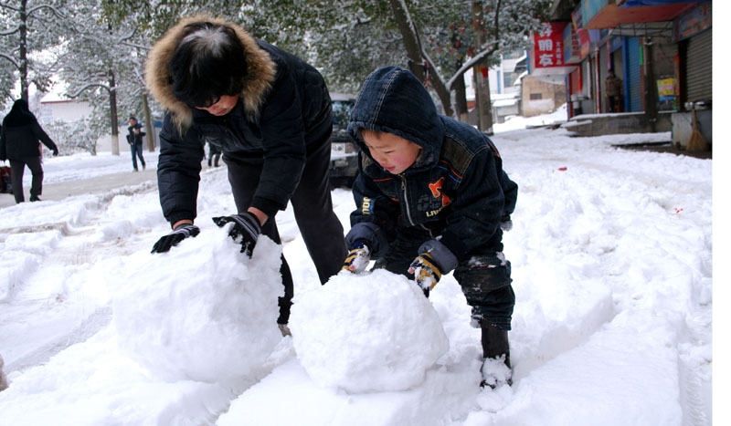
[[[333,148],[330,151],[331,188],[353,186],[358,174],[358,149],[348,135],[348,118],[355,106],[355,96],[331,93],[333,99]]]

